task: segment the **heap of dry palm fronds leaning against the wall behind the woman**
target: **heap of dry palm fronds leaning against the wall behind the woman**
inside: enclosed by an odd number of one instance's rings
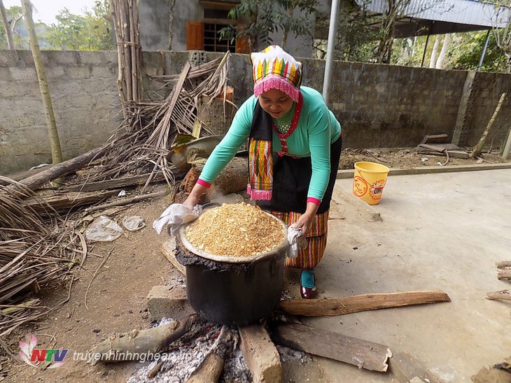
[[[148,185],[161,172],[172,186],[175,168],[167,162],[167,154],[174,138],[178,133],[192,134],[203,97],[211,103],[226,94],[228,59],[226,53],[200,66],[187,63],[180,75],[153,76],[166,87],[174,87],[166,97],[137,102],[127,111],[109,139],[109,153],[99,163],[91,164],[87,182],[149,173]],[[208,127],[202,127],[202,136],[212,134]]]

